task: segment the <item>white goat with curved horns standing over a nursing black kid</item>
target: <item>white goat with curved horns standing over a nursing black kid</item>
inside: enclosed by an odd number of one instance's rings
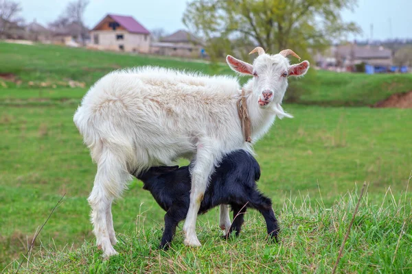
[[[256,142],[273,124],[287,115],[280,103],[288,76],[304,75],[309,62],[290,65],[286,55],[268,55],[261,47],[253,65],[227,55],[238,73],[253,75],[244,90]],[[183,230],[185,244],[200,246],[196,216],[209,176],[222,155],[236,149],[251,151],[244,142],[237,102],[240,86],[234,77],[209,77],[146,67],[114,71],[102,77],[84,96],[74,123],[98,164],[88,199],[97,245],[104,256],[117,252],[111,205],[130,181],[129,171],[169,165],[177,158],[192,160],[190,208]],[[220,227],[230,227],[227,206],[220,208]]]

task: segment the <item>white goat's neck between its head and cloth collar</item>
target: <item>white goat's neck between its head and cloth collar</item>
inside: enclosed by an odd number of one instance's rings
[[[253,95],[252,87],[251,81],[243,86],[247,96],[247,109],[251,119],[252,142],[255,143],[271,128],[276,114],[270,108],[260,107],[258,103],[259,97]]]

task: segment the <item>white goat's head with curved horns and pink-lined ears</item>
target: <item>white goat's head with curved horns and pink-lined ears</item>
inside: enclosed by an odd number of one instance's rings
[[[227,55],[226,62],[233,71],[244,75],[253,75],[253,94],[262,108],[267,108],[271,102],[282,103],[289,76],[301,76],[309,69],[309,62],[290,65],[286,56],[300,57],[290,49],[280,51],[278,54],[269,55],[262,47],[257,47],[251,53],[259,53],[253,65]],[[249,53],[249,54],[251,54]]]

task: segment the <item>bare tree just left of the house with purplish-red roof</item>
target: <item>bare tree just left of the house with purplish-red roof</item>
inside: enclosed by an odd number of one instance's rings
[[[69,2],[64,12],[58,16],[56,21],[50,23],[49,25],[54,28],[59,28],[67,27],[67,25],[70,25],[71,23],[78,24],[80,27],[78,36],[84,45],[87,37],[87,27],[84,24],[84,12],[86,11],[87,5],[89,5],[89,0],[76,0]]]

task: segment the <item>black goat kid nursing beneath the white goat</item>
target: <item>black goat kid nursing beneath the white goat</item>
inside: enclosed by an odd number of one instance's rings
[[[190,204],[190,166],[155,166],[135,177],[144,182],[159,206],[166,211],[165,229],[160,248],[168,249],[176,231],[176,226],[185,219]],[[264,216],[270,238],[275,238],[279,227],[272,201],[259,192],[255,181],[260,178],[260,166],[252,155],[243,150],[234,151],[222,159],[220,166],[211,175],[199,214],[219,206],[230,205],[233,223],[229,234],[236,231],[238,236],[247,208],[254,208]],[[229,235],[228,234],[228,235]]]

